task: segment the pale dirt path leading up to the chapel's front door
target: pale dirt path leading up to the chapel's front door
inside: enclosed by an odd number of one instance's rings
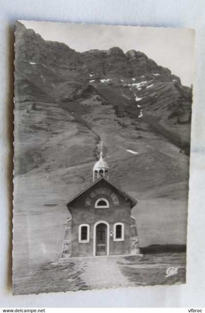
[[[132,286],[120,269],[119,257],[83,258],[83,260],[81,278],[90,289]]]

